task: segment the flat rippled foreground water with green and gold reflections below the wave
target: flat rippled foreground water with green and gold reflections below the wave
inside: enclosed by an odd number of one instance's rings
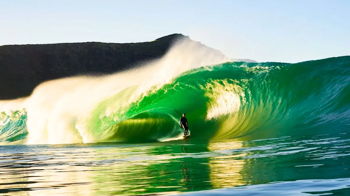
[[[350,195],[349,141],[0,146],[0,195]]]

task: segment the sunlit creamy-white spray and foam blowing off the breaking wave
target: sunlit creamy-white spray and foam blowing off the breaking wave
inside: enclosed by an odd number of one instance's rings
[[[180,40],[163,58],[144,62],[141,68],[104,77],[80,76],[44,82],[28,98],[1,101],[0,110],[26,108],[27,144],[103,141],[109,133],[96,133],[98,128],[92,121],[112,114],[115,123],[123,121],[130,104],[150,90],[159,89],[184,71],[225,61],[212,51],[192,40]],[[105,107],[99,106],[116,95],[118,99]]]

